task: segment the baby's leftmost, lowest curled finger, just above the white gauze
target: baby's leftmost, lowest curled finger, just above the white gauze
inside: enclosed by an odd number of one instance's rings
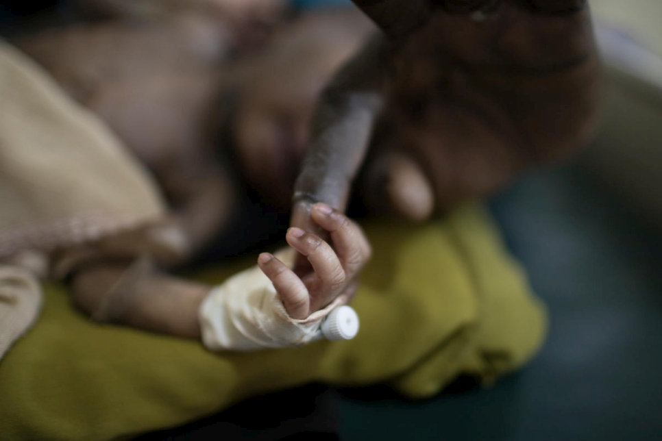
[[[287,314],[292,318],[308,317],[310,295],[304,282],[286,264],[269,253],[260,254],[258,266],[273,283]]]

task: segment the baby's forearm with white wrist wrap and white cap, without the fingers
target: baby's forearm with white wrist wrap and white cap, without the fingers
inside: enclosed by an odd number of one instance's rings
[[[285,259],[287,262],[290,258]],[[351,338],[358,329],[352,310],[341,310],[341,334],[324,333],[323,323],[336,307],[330,305],[295,320],[273,284],[254,267],[219,286],[160,273],[148,260],[100,263],[71,278],[75,305],[101,323],[123,325],[180,338],[201,340],[212,351],[254,351],[306,344],[326,338]],[[347,320],[354,320],[347,334]],[[337,320],[336,320],[337,324]]]

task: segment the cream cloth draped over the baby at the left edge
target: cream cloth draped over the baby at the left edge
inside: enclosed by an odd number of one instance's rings
[[[144,232],[165,214],[154,182],[110,131],[0,41],[0,358],[38,315],[39,271],[28,261],[50,270],[62,250]],[[140,237],[172,248],[177,240],[164,236]],[[108,243],[104,251],[122,255],[148,247],[124,240],[120,252]],[[59,274],[90,253],[64,253]]]

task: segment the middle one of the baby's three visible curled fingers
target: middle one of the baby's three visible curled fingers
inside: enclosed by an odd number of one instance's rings
[[[299,228],[289,229],[285,238],[291,247],[308,257],[312,269],[322,281],[324,292],[316,294],[332,293],[345,283],[345,270],[330,244]]]

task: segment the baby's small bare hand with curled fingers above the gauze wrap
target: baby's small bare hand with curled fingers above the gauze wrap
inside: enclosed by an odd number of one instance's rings
[[[371,256],[363,231],[347,216],[326,204],[316,203],[312,220],[331,236],[333,248],[319,236],[297,227],[287,231],[286,240],[305,255],[312,266],[310,273],[296,275],[270,253],[258,257],[258,266],[273,283],[291,318],[307,318],[338,297],[352,297],[356,276]]]

